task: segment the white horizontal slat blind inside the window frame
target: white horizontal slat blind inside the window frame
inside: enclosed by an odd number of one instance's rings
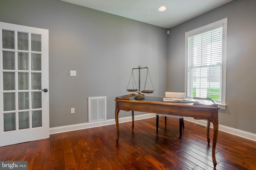
[[[222,30],[220,26],[188,37],[188,98],[210,97],[221,102]]]

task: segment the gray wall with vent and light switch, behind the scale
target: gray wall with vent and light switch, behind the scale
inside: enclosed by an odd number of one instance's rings
[[[164,28],[60,0],[0,0],[0,21],[49,29],[50,127],[88,122],[88,97],[107,96],[107,119],[114,119],[114,99],[130,93],[138,65],[149,67],[150,95],[163,96],[167,88]]]

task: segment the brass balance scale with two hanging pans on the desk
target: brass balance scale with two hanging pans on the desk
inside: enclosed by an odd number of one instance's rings
[[[144,68],[147,69],[146,80],[145,80],[144,90],[140,90],[140,69],[144,69]],[[136,70],[136,69],[139,70],[139,89],[136,86],[136,82],[135,82],[135,78],[134,78],[134,74],[133,74],[133,70]],[[150,82],[151,82],[153,90],[145,90],[148,77],[150,79]],[[132,88],[128,88],[130,83],[131,83],[131,80],[132,80]],[[134,85],[135,85],[135,88],[134,88]],[[129,80],[129,83],[128,83],[128,86],[127,86],[126,90],[128,92],[137,92],[138,91],[137,93],[139,95],[135,96],[135,98],[134,98],[134,99],[137,99],[137,100],[145,99],[144,95],[141,95],[141,93],[154,93],[154,86],[153,86],[152,80],[150,78],[148,67],[140,67],[140,66],[138,66],[138,68],[132,68],[132,74],[130,76],[130,80]]]

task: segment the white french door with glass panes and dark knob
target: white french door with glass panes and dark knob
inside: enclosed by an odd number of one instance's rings
[[[49,138],[48,30],[0,22],[0,49],[0,147]]]

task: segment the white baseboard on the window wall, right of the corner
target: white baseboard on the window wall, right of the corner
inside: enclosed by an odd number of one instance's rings
[[[184,117],[184,120],[207,126],[207,121],[206,120],[196,120],[192,117]],[[211,123],[210,127],[213,128],[212,123]],[[226,133],[230,133],[232,135],[236,135],[236,136],[239,136],[239,137],[242,137],[242,138],[246,138],[246,139],[249,139],[249,140],[252,140],[252,141],[256,141],[256,134],[246,132],[246,131],[241,131],[239,129],[234,129],[232,127],[227,127],[227,126],[219,124],[219,131],[223,131],[223,132],[226,132]]]

